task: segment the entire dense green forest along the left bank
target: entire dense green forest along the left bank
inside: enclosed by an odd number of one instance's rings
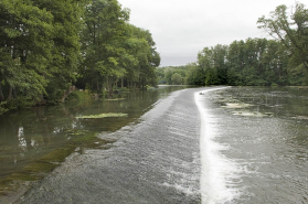
[[[1,0],[0,112],[64,100],[75,87],[156,85],[151,33],[117,0]]]

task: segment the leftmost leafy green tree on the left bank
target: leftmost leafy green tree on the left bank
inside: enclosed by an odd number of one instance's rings
[[[35,103],[45,94],[53,15],[22,0],[1,0],[0,11],[0,100]]]

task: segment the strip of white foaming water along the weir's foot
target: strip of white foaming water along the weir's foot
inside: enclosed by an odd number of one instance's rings
[[[215,142],[219,137],[219,121],[211,115],[211,109],[204,106],[206,92],[194,94],[194,100],[200,111],[200,151],[201,151],[201,198],[202,203],[232,203],[232,200],[240,196],[234,181],[238,181],[236,163],[220,151],[229,147]]]

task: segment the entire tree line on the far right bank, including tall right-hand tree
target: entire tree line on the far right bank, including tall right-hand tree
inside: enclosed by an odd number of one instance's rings
[[[289,12],[288,12],[289,11]],[[217,44],[185,66],[159,67],[160,84],[286,86],[308,85],[308,10],[279,6],[258,28],[273,36]]]

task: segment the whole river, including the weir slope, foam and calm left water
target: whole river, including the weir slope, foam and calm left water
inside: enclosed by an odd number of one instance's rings
[[[4,131],[1,124],[0,141],[10,137],[7,132],[15,140],[11,148],[1,143],[8,149],[1,164],[21,163],[23,171],[38,161],[57,167],[17,203],[307,203],[306,89],[161,87],[121,97],[126,100],[96,101],[91,108],[68,106],[65,117],[59,107],[60,118],[44,109],[43,120],[25,120],[39,122],[34,127],[41,132],[21,120],[1,120],[14,129],[7,125]],[[128,117],[75,119],[94,112]],[[45,121],[53,122],[46,128]],[[92,132],[99,140],[68,142]],[[56,144],[71,147],[70,157],[63,163],[42,160],[57,152]],[[3,167],[2,178],[19,172]]]

